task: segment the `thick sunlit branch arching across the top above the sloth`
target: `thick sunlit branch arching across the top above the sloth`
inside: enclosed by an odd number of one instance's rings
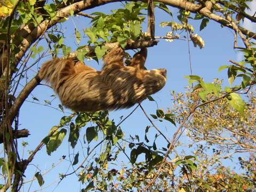
[[[135,0],[132,0],[135,1]],[[68,17],[70,14],[70,10],[74,11],[74,14],[79,13],[81,11],[84,10],[88,10],[88,9],[92,9],[94,7],[97,6],[101,6],[107,3],[113,3],[113,2],[118,2],[117,0],[103,0],[103,1],[93,1],[93,0],[89,0],[89,1],[80,1],[74,4],[71,4],[69,6],[64,7],[63,9],[59,10],[57,12],[57,17],[55,17],[54,20],[49,21],[49,20],[45,20],[42,23],[39,24],[39,26],[37,26],[34,30],[32,31],[28,31],[28,36],[23,39],[23,41],[20,44],[20,49],[21,51],[15,55],[15,57],[17,58],[17,63],[20,61],[20,59],[23,57],[23,55],[25,54],[25,52],[27,51],[27,49],[30,47],[31,44],[33,44],[37,38],[39,38],[44,31],[46,31],[47,29],[49,29],[50,27],[52,27],[53,25],[55,25],[58,21],[60,21],[63,17]],[[143,2],[148,2],[148,0],[144,0]],[[177,7],[179,9],[183,9],[183,10],[187,10],[193,13],[201,13],[203,14],[205,17],[212,19],[214,21],[217,21],[218,23],[220,23],[223,26],[227,26],[231,29],[233,29],[233,26],[231,25],[231,23],[224,19],[223,17],[221,17],[220,15],[214,14],[212,13],[206,6],[202,6],[202,5],[198,5],[198,4],[193,4],[187,1],[182,1],[182,0],[159,0],[159,2],[165,3],[166,5],[170,5],[173,7]],[[22,28],[23,30],[29,30],[28,26],[23,26]],[[239,30],[242,31],[242,33],[244,35],[247,35],[251,38],[256,39],[256,35],[255,33],[244,29],[242,27],[239,27]]]

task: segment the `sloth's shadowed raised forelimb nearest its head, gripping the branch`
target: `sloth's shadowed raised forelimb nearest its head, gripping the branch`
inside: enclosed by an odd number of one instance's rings
[[[147,48],[141,48],[140,52],[135,53],[130,61],[129,66],[145,70],[145,61],[147,58]]]

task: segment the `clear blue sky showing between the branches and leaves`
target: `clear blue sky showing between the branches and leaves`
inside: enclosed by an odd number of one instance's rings
[[[96,11],[110,13],[110,9],[117,9],[119,3],[112,3],[108,5],[104,5],[101,7],[97,7],[93,10],[86,11],[86,13],[92,13]],[[255,1],[252,3],[255,12]],[[170,9],[173,13],[173,19],[177,21],[177,12],[178,9]],[[155,10],[156,17],[156,36],[165,36],[167,31],[170,31],[170,28],[159,27],[159,23],[162,21],[171,21],[169,15],[165,12],[156,9]],[[228,85],[226,81],[227,71],[223,70],[218,73],[218,68],[222,65],[228,65],[228,60],[237,61],[241,59],[241,55],[233,49],[234,43],[234,35],[233,31],[228,28],[221,28],[218,23],[210,21],[208,26],[199,31],[200,23],[198,21],[191,21],[191,23],[195,28],[195,34],[197,33],[201,36],[205,42],[204,49],[199,49],[198,47],[194,47],[193,44],[190,43],[190,56],[192,63],[193,75],[201,76],[205,79],[206,82],[212,82],[214,78],[218,77],[220,79],[225,78],[225,85]],[[251,29],[252,31],[256,31],[255,23],[245,22],[245,27]],[[69,19],[69,21],[63,24],[61,30],[66,30],[65,36],[69,37],[65,39],[65,43],[73,48],[73,51],[76,50],[76,45],[73,42],[75,33],[75,27],[78,28],[86,28],[89,27],[89,22],[87,22],[83,17],[75,17],[73,19]],[[185,34],[184,34],[185,35]],[[83,39],[82,43],[85,43],[87,39]],[[50,56],[48,58],[44,58],[44,60],[50,60]],[[32,61],[31,61],[32,62]],[[90,65],[93,68],[100,70],[102,63],[98,63],[94,61],[85,61],[86,65]],[[42,62],[38,63],[38,66],[41,66]],[[189,54],[188,54],[188,44],[186,41],[175,40],[174,42],[166,42],[163,39],[159,39],[159,43],[157,46],[150,47],[148,49],[148,58],[146,61],[147,69],[155,69],[155,68],[166,68],[167,69],[167,83],[165,87],[159,91],[158,93],[153,95],[153,98],[157,101],[157,105],[155,102],[150,102],[145,100],[142,102],[143,108],[147,111],[148,114],[155,114],[157,106],[159,109],[166,110],[167,107],[172,107],[171,94],[170,91],[174,90],[175,92],[185,91],[184,87],[188,85],[187,79],[183,78],[183,76],[190,75],[189,68]],[[35,69],[36,70],[36,69]],[[30,72],[30,77],[33,77],[35,73]],[[27,150],[34,150],[35,147],[39,144],[39,142],[47,135],[52,126],[57,125],[59,123],[59,119],[63,115],[69,115],[68,113],[63,114],[61,111],[55,110],[53,108],[37,105],[35,103],[31,103],[29,101],[33,101],[32,97],[36,97],[39,99],[40,103],[44,104],[44,100],[51,100],[50,95],[54,94],[54,92],[47,86],[39,85],[32,92],[32,94],[28,97],[27,101],[21,108],[20,111],[20,129],[28,129],[30,131],[30,137],[21,139],[23,141],[28,141],[29,146],[25,149],[25,156],[23,158],[27,158],[28,153]],[[55,99],[52,102],[52,107],[58,108],[59,100]],[[135,106],[134,106],[135,107]],[[115,119],[116,122],[119,121],[119,117],[126,116],[131,113],[134,109],[125,109],[118,111],[110,111],[109,119]],[[68,112],[67,109],[65,111]],[[130,134],[135,135],[138,134],[143,139],[145,134],[145,128],[147,125],[150,125],[145,115],[143,115],[140,108],[138,108],[126,121],[121,125],[125,135],[128,137]],[[164,122],[158,124],[159,129],[168,137],[172,138],[173,133],[176,131],[176,127],[173,126],[169,122]],[[81,132],[81,135],[85,133],[85,129]],[[150,139],[154,139],[155,130],[153,128],[149,131]],[[64,142],[67,142],[68,136]],[[20,141],[21,141],[20,140]],[[186,141],[186,138],[181,138],[182,141]],[[159,145],[161,145],[161,142]],[[165,144],[164,144],[165,145]],[[81,148],[79,148],[82,150]],[[82,161],[82,151],[79,160]],[[28,170],[26,171],[25,181],[32,179],[33,175],[38,171],[36,167],[38,166],[41,173],[44,173],[45,170],[49,170],[52,164],[57,163],[62,155],[68,154],[76,154],[77,149],[73,151],[73,149],[69,148],[66,143],[63,143],[62,146],[58,149],[57,152],[52,153],[51,156],[47,156],[45,147],[41,151],[37,153],[34,161],[31,165],[29,165]],[[21,154],[21,152],[20,152]],[[125,158],[121,158],[118,162],[119,166],[122,166],[122,161],[125,161]],[[44,175],[45,184],[43,187],[49,185],[54,180],[58,179],[59,173],[66,173],[68,170],[69,163],[63,161],[60,165],[55,167],[52,171]],[[69,169],[67,172],[69,173],[72,169]],[[80,188],[85,188],[86,186],[80,186],[80,183],[77,182],[77,177],[75,175],[70,175],[68,178],[64,179],[60,185],[54,190],[56,183],[49,188],[46,188],[42,191],[78,191]],[[24,191],[28,191],[30,183],[25,185]],[[34,181],[29,191],[35,191],[40,189],[37,181]]]

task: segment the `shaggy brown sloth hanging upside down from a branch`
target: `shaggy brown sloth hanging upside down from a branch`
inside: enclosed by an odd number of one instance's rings
[[[103,58],[97,71],[71,59],[46,61],[39,77],[49,82],[62,104],[74,111],[130,108],[161,90],[166,69],[145,70],[147,49],[142,48],[124,65],[124,50],[116,47]]]

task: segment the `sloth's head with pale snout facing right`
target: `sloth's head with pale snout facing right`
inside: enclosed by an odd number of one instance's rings
[[[143,83],[147,93],[153,94],[161,90],[166,83],[166,69],[153,69],[145,71]]]

